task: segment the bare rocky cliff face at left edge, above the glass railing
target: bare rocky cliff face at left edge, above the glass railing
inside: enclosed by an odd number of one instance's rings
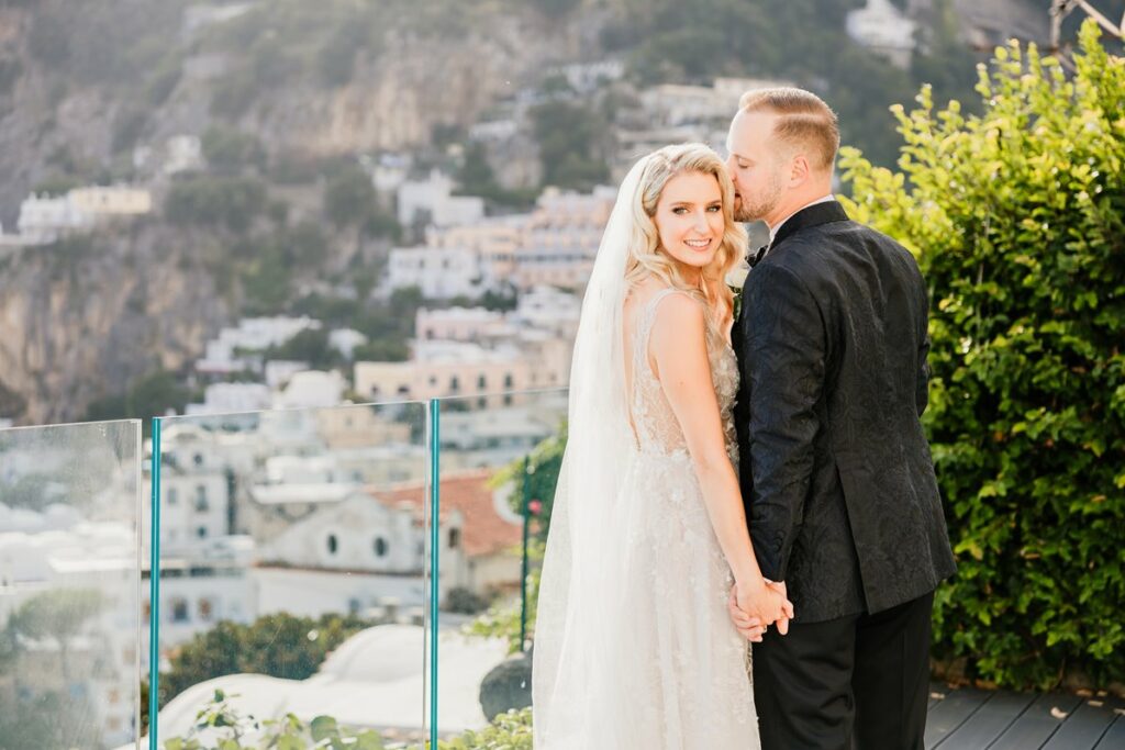
[[[79,418],[134,378],[184,367],[226,317],[166,228],[19,251],[0,260],[0,416]]]

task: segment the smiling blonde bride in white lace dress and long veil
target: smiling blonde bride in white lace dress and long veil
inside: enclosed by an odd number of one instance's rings
[[[540,586],[537,750],[758,747],[748,647],[792,616],[750,546],[731,418],[734,187],[703,145],[640,160],[583,301]],[[760,639],[765,627],[753,629]]]

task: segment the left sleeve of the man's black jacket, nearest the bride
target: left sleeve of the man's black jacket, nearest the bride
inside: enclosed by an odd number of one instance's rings
[[[750,387],[750,539],[762,573],[784,580],[804,515],[825,382],[826,332],[804,283],[776,264],[756,268],[744,298]]]

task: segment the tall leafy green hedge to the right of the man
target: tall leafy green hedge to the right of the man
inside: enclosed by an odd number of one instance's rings
[[[1125,64],[1090,21],[1073,65],[1012,43],[981,116],[896,111],[898,172],[842,156],[932,293],[935,656],[1011,687],[1125,681]]]

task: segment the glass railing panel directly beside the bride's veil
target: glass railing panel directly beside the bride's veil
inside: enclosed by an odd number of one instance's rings
[[[440,740],[450,740],[531,704],[528,650],[566,441],[567,391],[438,404],[433,726]]]

